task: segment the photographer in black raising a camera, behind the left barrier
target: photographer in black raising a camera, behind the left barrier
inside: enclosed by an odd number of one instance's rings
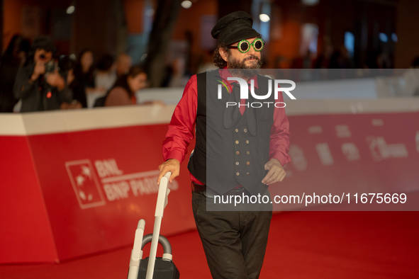
[[[62,102],[72,101],[72,91],[58,72],[54,58],[56,48],[45,36],[35,38],[26,65],[18,70],[13,89],[22,100],[21,113],[58,110]]]

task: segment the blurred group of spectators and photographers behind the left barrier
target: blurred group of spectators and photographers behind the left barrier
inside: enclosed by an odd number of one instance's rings
[[[11,39],[0,61],[0,112],[31,112],[138,103],[135,92],[147,87],[147,74],[129,55],[102,55],[92,50],[58,55],[48,36],[32,44],[21,35]],[[16,106],[17,104],[17,106]]]

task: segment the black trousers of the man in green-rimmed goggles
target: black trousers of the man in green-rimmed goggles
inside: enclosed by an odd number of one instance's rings
[[[259,278],[272,207],[267,211],[207,211],[206,202],[205,195],[192,193],[196,227],[212,277]]]

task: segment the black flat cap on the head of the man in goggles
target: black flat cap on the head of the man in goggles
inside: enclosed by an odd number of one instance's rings
[[[223,16],[211,30],[214,39],[218,39],[218,43],[231,45],[240,40],[259,37],[260,34],[252,28],[253,19],[244,11],[235,11]]]

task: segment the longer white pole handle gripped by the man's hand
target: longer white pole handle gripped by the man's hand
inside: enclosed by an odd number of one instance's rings
[[[162,178],[160,178],[160,187],[159,193],[157,194],[157,205],[155,212],[155,227],[152,231],[150,256],[148,257],[147,275],[145,276],[145,279],[152,279],[152,275],[155,271],[157,246],[159,245],[160,225],[162,224],[164,207],[167,205],[167,195],[170,193],[169,188],[167,188],[167,184],[169,183],[169,178],[171,175],[172,173],[168,171]]]

